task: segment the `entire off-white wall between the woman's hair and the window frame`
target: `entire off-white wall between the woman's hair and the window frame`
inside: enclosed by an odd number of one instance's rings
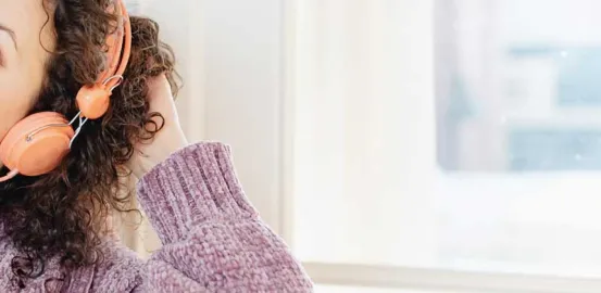
[[[177,53],[186,132],[233,146],[247,195],[280,232],[283,1],[147,1]]]

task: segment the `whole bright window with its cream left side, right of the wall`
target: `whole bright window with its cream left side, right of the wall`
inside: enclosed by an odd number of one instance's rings
[[[290,234],[316,280],[600,288],[599,5],[296,1]]]

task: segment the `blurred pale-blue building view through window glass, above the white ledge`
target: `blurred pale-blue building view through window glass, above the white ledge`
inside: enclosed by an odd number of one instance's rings
[[[594,1],[450,1],[437,20],[446,170],[598,170]],[[558,22],[558,20],[562,20]]]

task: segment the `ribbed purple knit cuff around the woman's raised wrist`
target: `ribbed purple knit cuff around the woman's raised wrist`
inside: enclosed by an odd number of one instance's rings
[[[204,222],[258,216],[236,176],[230,148],[222,143],[201,142],[175,152],[145,175],[137,190],[163,244],[183,240]]]

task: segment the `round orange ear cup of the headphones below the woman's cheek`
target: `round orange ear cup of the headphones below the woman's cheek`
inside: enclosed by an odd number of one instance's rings
[[[59,166],[75,131],[59,113],[41,112],[18,122],[0,142],[0,160],[11,170],[39,176]]]

